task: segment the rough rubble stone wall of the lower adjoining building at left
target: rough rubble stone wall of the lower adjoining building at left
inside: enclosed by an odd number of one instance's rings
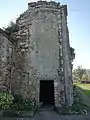
[[[5,32],[0,29],[0,91],[9,89],[9,41]]]

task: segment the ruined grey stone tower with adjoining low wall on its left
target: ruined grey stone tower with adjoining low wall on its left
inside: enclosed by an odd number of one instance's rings
[[[73,103],[67,6],[38,1],[17,19],[10,43],[0,30],[0,90],[56,107]]]

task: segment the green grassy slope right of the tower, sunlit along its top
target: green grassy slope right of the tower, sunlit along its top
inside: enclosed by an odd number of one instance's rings
[[[90,107],[90,84],[75,83],[84,104]]]

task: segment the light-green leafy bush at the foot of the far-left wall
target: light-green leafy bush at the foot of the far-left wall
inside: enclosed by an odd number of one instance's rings
[[[10,105],[13,103],[13,96],[7,93],[0,93],[0,109],[9,109]]]

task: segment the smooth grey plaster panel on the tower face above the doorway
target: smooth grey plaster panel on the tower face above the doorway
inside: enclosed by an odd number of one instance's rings
[[[30,26],[29,41],[33,46],[31,64],[38,70],[39,78],[54,79],[59,66],[58,24],[56,15],[38,11]]]

